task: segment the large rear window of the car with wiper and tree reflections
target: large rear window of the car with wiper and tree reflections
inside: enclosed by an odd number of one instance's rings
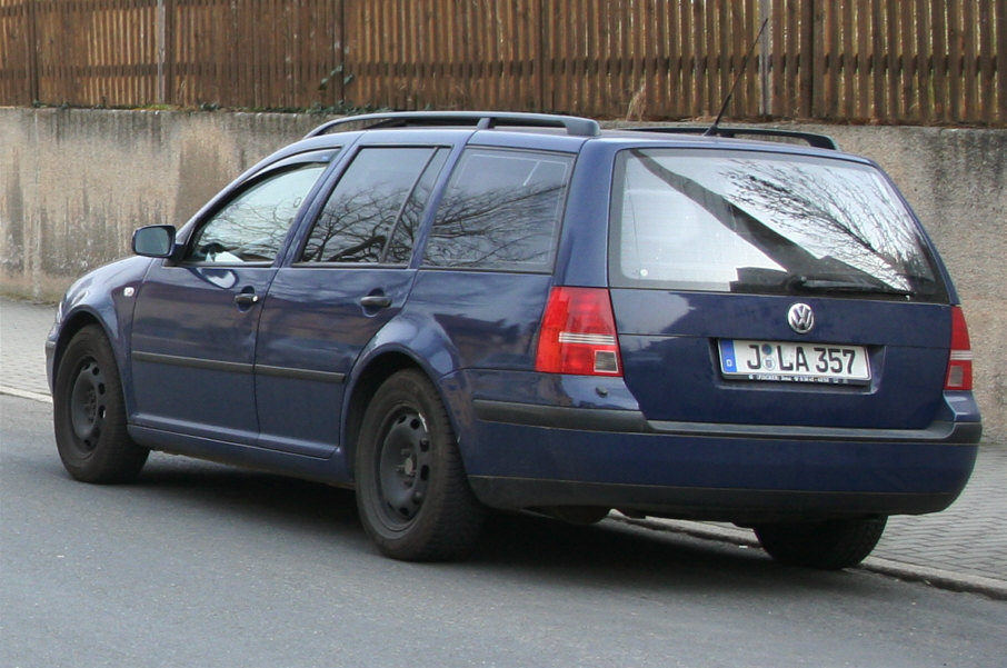
[[[619,287],[946,299],[901,198],[858,162],[627,150],[611,216]]]

